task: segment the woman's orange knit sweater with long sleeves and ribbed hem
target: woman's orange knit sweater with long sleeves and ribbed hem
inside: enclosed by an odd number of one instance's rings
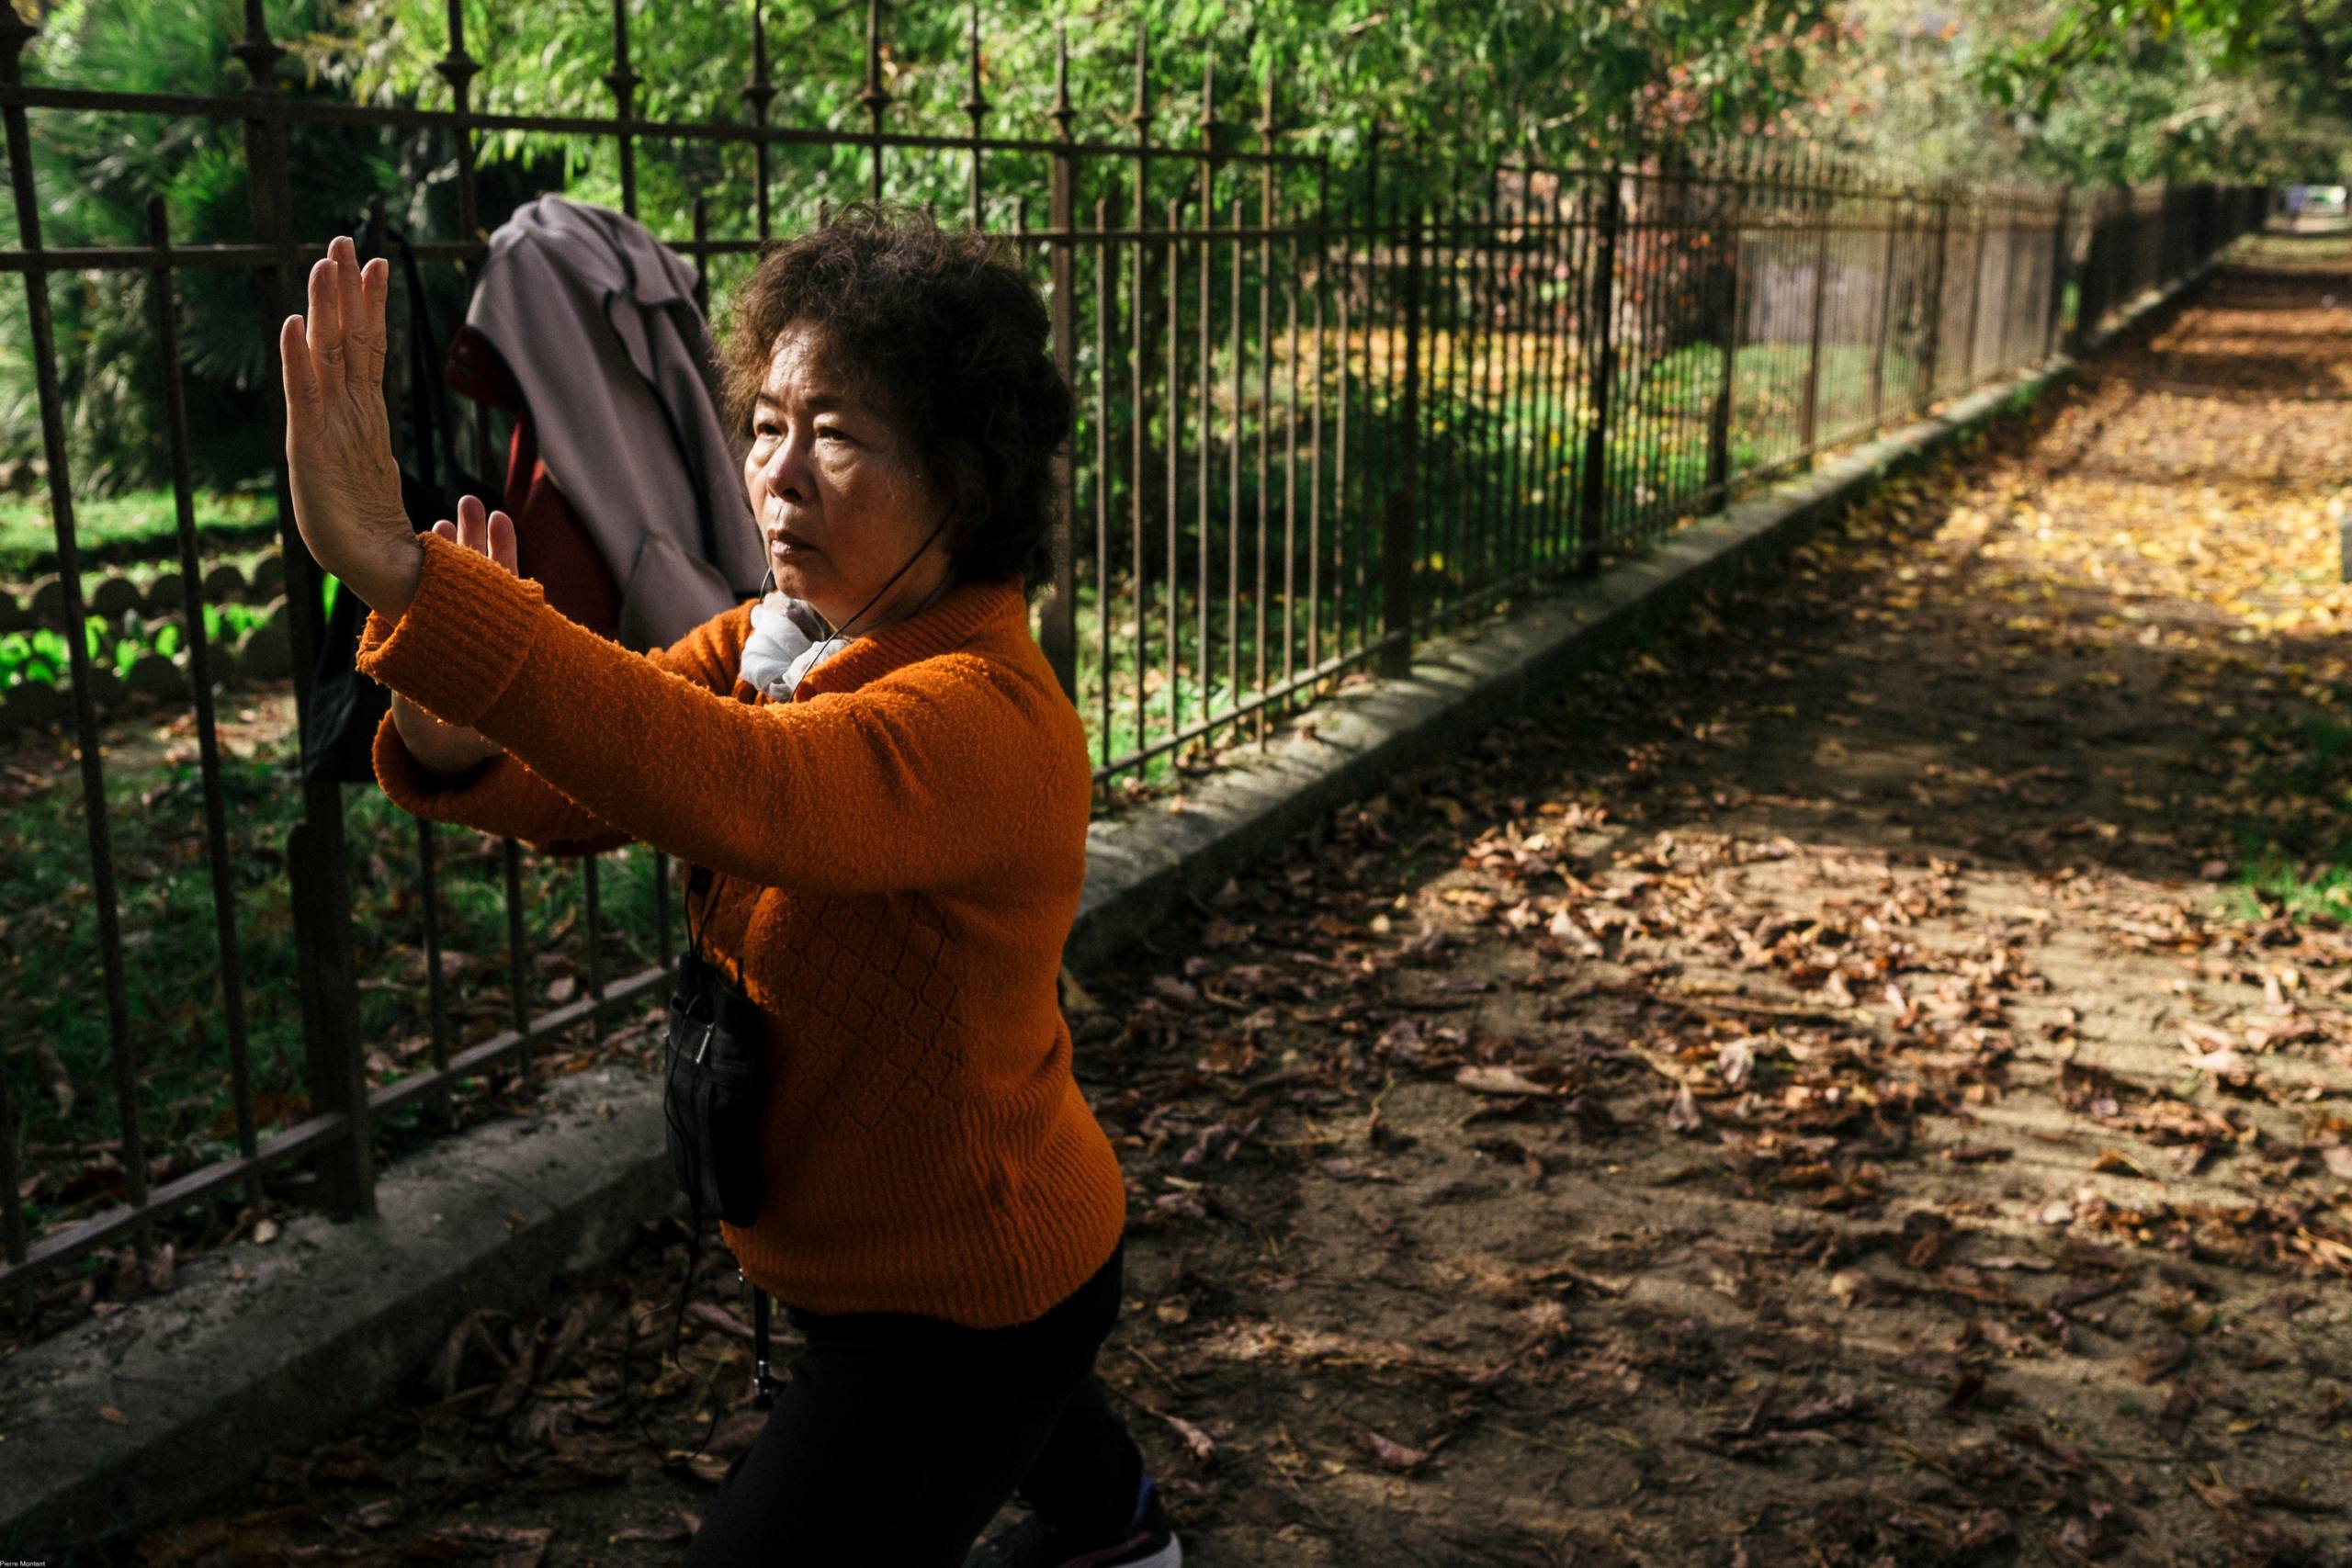
[[[1056,978],[1087,872],[1077,712],[1011,583],[847,644],[790,703],[736,679],[750,602],[647,656],[423,534],[358,668],[506,748],[407,811],[560,853],[642,839],[720,872],[706,950],[769,1020],[762,1208],[720,1234],[809,1312],[1021,1324],[1094,1274],[1127,1190],[1070,1077]]]

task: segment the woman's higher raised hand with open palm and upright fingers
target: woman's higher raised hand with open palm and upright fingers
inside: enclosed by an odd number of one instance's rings
[[[322,571],[369,609],[400,618],[416,597],[423,548],[400,505],[393,421],[383,407],[383,296],[390,268],[365,268],[336,237],[310,268],[310,313],[278,329],[287,388],[294,527]]]

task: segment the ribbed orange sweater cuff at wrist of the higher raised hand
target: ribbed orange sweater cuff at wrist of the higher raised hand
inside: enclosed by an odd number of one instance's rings
[[[473,724],[532,654],[546,592],[480,550],[419,534],[423,569],[400,621],[367,616],[353,668],[449,724]]]

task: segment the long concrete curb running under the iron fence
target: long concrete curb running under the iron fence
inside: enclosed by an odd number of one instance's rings
[[[2084,353],[2192,289],[2211,266],[2136,303]],[[1435,639],[1409,677],[1319,703],[1310,731],[1221,771],[1178,811],[1096,823],[1068,961],[1105,959],[1331,806],[1529,708],[1696,595],[1802,543],[1886,473],[2072,367],[2060,355],[1987,386],[1592,581]],[[616,1159],[616,1150],[635,1154]],[[527,1114],[386,1171],[376,1201],[367,1220],[303,1215],[268,1246],[195,1258],[169,1298],[0,1363],[0,1556],[61,1563],[73,1547],[169,1521],[254,1474],[268,1453],[327,1439],[395,1394],[463,1314],[527,1309],[560,1274],[621,1255],[640,1222],[682,1208],[663,1152],[661,1088],[621,1067],[557,1079]],[[724,1253],[703,1269],[724,1272]],[[99,1415],[101,1406],[120,1420]]]

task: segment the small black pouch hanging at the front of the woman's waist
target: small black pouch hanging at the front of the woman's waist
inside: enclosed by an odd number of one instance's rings
[[[677,959],[661,1110],[696,1215],[760,1218],[760,1009],[699,952]]]

